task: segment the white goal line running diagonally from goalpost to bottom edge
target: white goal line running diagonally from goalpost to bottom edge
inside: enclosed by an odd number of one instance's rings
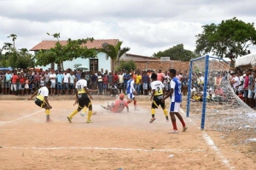
[[[181,109],[181,111],[183,112],[183,115],[185,115],[185,112]],[[186,117],[187,119],[189,119],[189,122],[191,122],[194,126],[197,127],[196,123],[190,119],[189,117]],[[198,127],[199,128],[199,127]],[[212,150],[215,151],[215,153],[219,156],[219,158],[221,159],[222,162],[224,162],[224,164],[230,168],[230,169],[234,169],[234,167],[230,166],[230,161],[228,161],[227,158],[225,158],[223,156],[223,154],[221,153],[220,150],[218,150],[218,147],[214,144],[213,140],[211,139],[211,137],[206,133],[206,131],[202,131],[203,133],[203,137],[205,139],[205,141],[207,142],[207,144],[212,148]]]

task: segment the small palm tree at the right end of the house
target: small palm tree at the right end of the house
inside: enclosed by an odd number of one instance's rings
[[[107,56],[112,59],[112,71],[113,63],[119,61],[120,57],[130,50],[130,48],[121,48],[122,43],[123,42],[118,42],[115,46],[113,46],[105,42],[102,43],[102,48],[99,49],[99,52],[107,54]]]

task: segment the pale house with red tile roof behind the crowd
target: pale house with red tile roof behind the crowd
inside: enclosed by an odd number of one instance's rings
[[[34,51],[35,54],[38,53],[40,49],[50,49],[55,47],[55,43],[57,41],[42,41],[39,42],[38,45],[30,49],[30,51]],[[59,41],[61,45],[67,44],[67,41]],[[107,42],[108,44],[111,44],[115,46],[119,40],[118,39],[105,39],[105,40],[94,40],[93,42],[86,42],[84,46],[87,48],[102,48],[102,43]],[[63,66],[64,69],[70,68],[74,69],[74,65],[80,64],[86,66],[90,71],[100,71],[102,68],[104,70],[112,71],[112,59],[108,58],[106,54],[98,53],[97,57],[94,59],[73,59],[72,61],[64,61]],[[60,65],[59,65],[60,66]],[[52,63],[46,66],[38,65],[36,67],[43,68],[43,70],[46,70],[48,68],[54,68],[55,70],[59,67],[57,64]]]

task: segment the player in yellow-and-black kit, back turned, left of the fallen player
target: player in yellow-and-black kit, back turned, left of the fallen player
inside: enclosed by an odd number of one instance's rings
[[[92,99],[92,97],[90,95],[90,90],[87,88],[85,72],[81,73],[81,79],[76,83],[75,94],[76,100],[74,105],[79,104],[79,107],[77,110],[73,111],[73,113],[70,116],[67,116],[67,120],[69,122],[72,122],[73,116],[75,116],[79,111],[81,111],[84,108],[84,106],[86,106],[89,109],[86,122],[93,122],[90,120],[90,116],[92,115],[92,104],[90,102],[90,99]],[[88,97],[88,95],[90,98]]]

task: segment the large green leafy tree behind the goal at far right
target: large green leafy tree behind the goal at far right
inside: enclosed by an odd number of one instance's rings
[[[195,53],[199,55],[213,53],[220,58],[236,58],[247,54],[247,48],[256,44],[256,30],[253,23],[245,23],[235,18],[222,20],[218,25],[202,26],[201,34],[196,35]]]

